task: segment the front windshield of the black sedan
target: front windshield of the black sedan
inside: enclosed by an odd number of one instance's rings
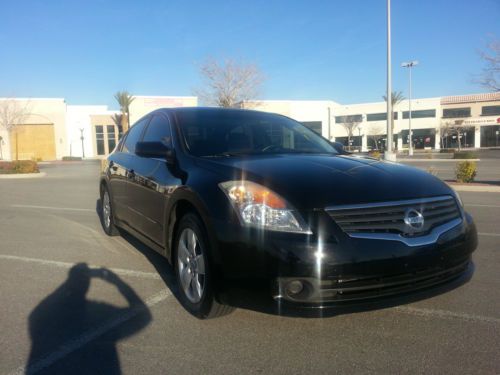
[[[337,154],[304,125],[284,116],[252,111],[180,112],[187,148],[195,156]]]

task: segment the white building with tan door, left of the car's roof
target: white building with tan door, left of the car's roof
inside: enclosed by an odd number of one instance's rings
[[[135,96],[130,120],[133,124],[157,108],[197,104],[191,96]],[[0,98],[0,159],[102,158],[120,138],[113,118],[119,113],[106,105],[71,105],[62,98]],[[6,122],[16,125],[9,131]]]

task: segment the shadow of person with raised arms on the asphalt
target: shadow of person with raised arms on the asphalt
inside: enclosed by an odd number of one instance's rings
[[[126,307],[92,301],[92,278],[114,285]],[[120,374],[116,343],[146,327],[151,312],[136,292],[107,269],[73,266],[68,278],[29,316],[31,352],[26,373]],[[125,322],[125,324],[120,324]]]

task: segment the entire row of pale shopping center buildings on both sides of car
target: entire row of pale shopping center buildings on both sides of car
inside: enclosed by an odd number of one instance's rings
[[[192,96],[134,98],[131,124],[157,108],[198,105]],[[21,110],[23,116],[11,131],[0,121],[2,159],[14,159],[16,153],[19,159],[35,160],[102,158],[114,149],[121,135],[114,121],[119,112],[106,105],[71,105],[62,98],[0,99],[0,116],[6,107]],[[240,107],[289,116],[352,150],[381,149],[386,143],[383,101],[344,105],[330,100],[260,100],[240,103]],[[500,147],[500,93],[414,99],[411,108],[417,150],[456,148],[459,139],[462,148]],[[398,150],[408,148],[409,117],[408,100],[394,106],[394,145]]]

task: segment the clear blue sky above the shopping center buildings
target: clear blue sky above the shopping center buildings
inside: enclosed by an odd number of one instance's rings
[[[192,95],[207,56],[257,63],[260,99],[380,101],[385,0],[3,1],[0,96],[109,104]],[[500,37],[499,0],[393,0],[393,87],[417,59],[414,97],[482,92],[477,51]]]

